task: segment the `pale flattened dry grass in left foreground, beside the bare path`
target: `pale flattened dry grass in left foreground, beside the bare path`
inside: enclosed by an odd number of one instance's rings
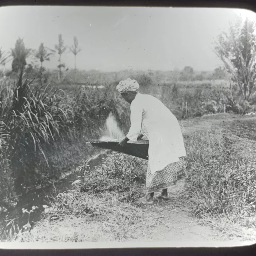
[[[40,225],[40,227],[32,230],[30,238],[28,238],[29,241],[31,241],[31,238],[34,241],[45,242],[125,241],[149,238],[154,232],[154,227],[162,224],[159,212],[120,202],[120,195],[116,192],[106,192],[95,196],[71,191],[66,195],[74,197],[76,206],[78,206],[78,202],[83,202],[81,208],[89,208],[90,212],[85,213],[84,216],[82,216],[82,213],[76,215],[78,209],[74,209],[70,214],[65,214],[63,218],[60,217],[61,219],[58,222],[43,222],[42,226]],[[83,207],[84,204],[86,204],[86,207]],[[160,209],[158,210],[160,211]],[[68,222],[71,222],[72,226]],[[51,233],[45,234],[42,230],[51,230]],[[74,237],[70,237],[71,235],[74,235]]]

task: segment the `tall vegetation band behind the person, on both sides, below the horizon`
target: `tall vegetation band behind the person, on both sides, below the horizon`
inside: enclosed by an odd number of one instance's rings
[[[255,109],[253,102],[247,104],[236,96],[235,88],[202,84],[192,88],[192,82],[184,88],[178,82],[147,86],[147,76],[140,79],[142,93],[160,98],[178,119],[224,112],[224,105],[227,112],[239,114]],[[62,86],[40,86],[22,78],[22,73],[14,83],[0,81],[2,212],[15,207],[16,191],[48,184],[92,156],[93,149],[86,142],[100,137],[110,112],[122,130],[128,131],[129,106],[115,85],[103,89],[70,85],[72,90],[64,91]]]

